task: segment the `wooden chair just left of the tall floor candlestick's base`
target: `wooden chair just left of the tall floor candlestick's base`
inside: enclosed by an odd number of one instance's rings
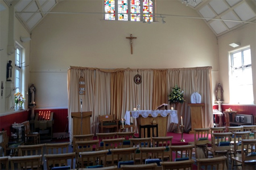
[[[164,159],[171,159],[171,152],[169,146],[172,146],[172,138],[174,137],[152,137],[153,147],[166,147],[166,150],[164,151]]]

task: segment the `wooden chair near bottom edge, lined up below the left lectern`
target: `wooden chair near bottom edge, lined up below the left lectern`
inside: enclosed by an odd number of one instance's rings
[[[102,151],[89,151],[89,152],[79,152],[81,158],[81,168],[85,168],[90,165],[102,165],[102,167],[106,166],[106,155],[109,150]],[[85,164],[86,163],[86,166]]]

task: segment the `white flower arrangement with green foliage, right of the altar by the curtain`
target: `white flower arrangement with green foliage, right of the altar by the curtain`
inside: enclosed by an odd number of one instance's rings
[[[168,101],[171,103],[183,103],[184,100],[184,91],[180,90],[180,87],[175,85],[175,87],[172,88],[172,91],[170,94],[168,94]]]

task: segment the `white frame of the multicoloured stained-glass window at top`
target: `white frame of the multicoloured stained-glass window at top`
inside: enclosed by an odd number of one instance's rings
[[[103,0],[104,1],[104,0]],[[114,0],[115,1],[115,20],[118,20],[118,21],[126,21],[126,20],[119,20],[118,18],[118,14],[122,14],[122,13],[118,13],[118,0]],[[141,1],[141,10],[140,10],[140,13],[136,13],[136,14],[140,14],[140,20],[139,21],[134,21],[134,22],[149,22],[148,19],[145,21],[144,18],[148,18],[148,16],[143,16],[147,13],[143,13],[143,0],[140,0]],[[151,0],[152,3],[153,3],[153,12],[152,14],[147,14],[147,15],[152,15],[151,18],[152,18],[152,21],[150,22],[155,22],[155,0]],[[104,1],[105,2],[105,1]],[[128,8],[128,20],[127,21],[131,21],[131,0],[127,0],[127,8]],[[105,13],[105,3],[104,3],[104,20],[109,20],[109,19],[106,19],[106,15],[105,14],[108,14],[108,13]],[[113,14],[113,13],[112,13]],[[126,13],[125,13],[126,14]],[[135,14],[135,15],[136,15]]]

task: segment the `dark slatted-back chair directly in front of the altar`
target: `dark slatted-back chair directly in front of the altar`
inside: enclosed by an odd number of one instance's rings
[[[139,138],[158,137],[158,124],[139,125]]]

